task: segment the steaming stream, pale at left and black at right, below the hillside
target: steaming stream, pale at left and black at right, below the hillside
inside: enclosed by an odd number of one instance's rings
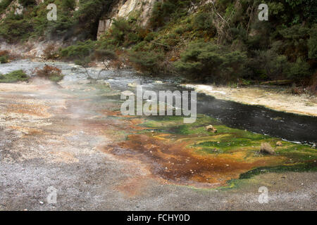
[[[79,66],[69,63],[47,63],[61,68],[66,77],[66,81],[78,81],[86,79],[84,70]],[[25,70],[32,75],[32,70],[41,68],[44,63],[20,60],[7,64],[0,64],[0,73],[11,72],[13,70]],[[91,69],[89,73],[92,77],[97,77],[99,71]],[[142,84],[144,90],[153,91],[174,91],[184,90],[178,86],[179,81],[175,78],[164,79],[164,84],[156,84],[155,78],[140,77],[130,70],[120,72],[105,71],[101,77],[111,84],[114,89],[126,91],[131,89],[128,84]],[[317,117],[295,115],[292,113],[282,113],[256,105],[243,105],[232,101],[223,101],[206,96],[197,95],[197,113],[209,115],[220,120],[228,127],[237,129],[247,129],[259,134],[275,136],[287,141],[301,143],[317,143]]]

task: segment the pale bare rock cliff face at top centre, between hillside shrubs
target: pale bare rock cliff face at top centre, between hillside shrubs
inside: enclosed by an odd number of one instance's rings
[[[113,19],[128,18],[132,13],[138,15],[140,25],[147,26],[156,1],[163,0],[118,0],[112,10],[99,21],[98,37],[111,27]]]

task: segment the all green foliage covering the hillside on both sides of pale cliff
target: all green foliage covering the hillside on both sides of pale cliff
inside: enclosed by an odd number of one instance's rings
[[[54,23],[46,20],[50,2],[8,15],[0,36],[8,41],[77,37],[79,42],[61,50],[62,58],[124,60],[147,74],[216,83],[292,79],[316,86],[314,0],[268,0],[268,21],[258,19],[259,0],[158,1],[148,27],[141,27],[140,12],[133,12],[113,20],[98,41],[99,18],[113,1],[82,0],[74,11],[73,0],[56,0],[63,10]]]

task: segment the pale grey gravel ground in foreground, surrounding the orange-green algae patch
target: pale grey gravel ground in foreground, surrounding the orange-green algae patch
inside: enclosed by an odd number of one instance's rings
[[[166,184],[104,153],[102,118],[72,106],[75,96],[49,83],[10,85],[0,84],[0,210],[316,210],[316,173],[261,174],[235,188]]]

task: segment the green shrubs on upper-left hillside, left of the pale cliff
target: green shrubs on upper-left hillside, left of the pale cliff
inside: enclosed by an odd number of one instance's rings
[[[0,3],[0,13],[8,2],[4,0]],[[75,11],[75,0],[47,0],[38,6],[32,0],[19,0],[19,3],[24,6],[23,15],[10,11],[1,21],[0,36],[10,43],[29,38],[95,39],[99,19],[113,0],[81,0],[78,11]],[[46,7],[52,3],[58,8],[56,21],[47,20],[49,10]]]

